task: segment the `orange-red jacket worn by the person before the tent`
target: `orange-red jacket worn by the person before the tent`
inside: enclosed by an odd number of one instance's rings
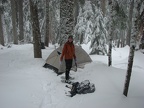
[[[64,44],[60,60],[62,61],[63,58],[65,58],[65,59],[73,59],[73,58],[76,59],[76,56],[75,56],[75,47],[74,47],[73,42],[67,41]]]

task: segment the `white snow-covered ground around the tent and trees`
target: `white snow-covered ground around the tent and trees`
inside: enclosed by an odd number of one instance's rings
[[[83,48],[89,52],[88,45]],[[90,80],[96,91],[66,96],[69,91],[61,76],[43,68],[50,46],[42,50],[42,58],[34,59],[33,45],[0,46],[0,108],[144,108],[144,54],[135,52],[128,97],[123,88],[129,47],[113,49],[112,66],[107,56],[91,55],[93,62],[77,72],[75,81]]]

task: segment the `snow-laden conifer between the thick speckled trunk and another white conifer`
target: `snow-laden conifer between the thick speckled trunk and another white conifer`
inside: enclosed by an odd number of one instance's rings
[[[76,43],[87,44],[91,40],[92,36],[92,19],[94,13],[90,1],[79,1],[79,15],[77,18],[77,24],[75,26],[75,39]]]

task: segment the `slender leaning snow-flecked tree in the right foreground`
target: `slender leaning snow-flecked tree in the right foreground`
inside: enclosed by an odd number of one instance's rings
[[[136,38],[137,35],[140,31],[140,26],[142,23],[142,26],[144,25],[143,19],[144,19],[144,11],[140,12],[140,4],[142,4],[142,0],[132,0],[132,2],[135,3],[135,19],[134,19],[134,28],[130,40],[130,52],[129,52],[129,58],[128,58],[128,66],[127,66],[127,73],[126,73],[126,79],[125,79],[125,84],[124,84],[124,90],[123,94],[125,96],[128,95],[128,89],[129,89],[129,84],[130,84],[130,79],[131,79],[131,73],[132,73],[132,67],[133,67],[133,60],[134,60],[134,52],[136,48]],[[144,7],[142,7],[142,10],[144,10]],[[140,12],[140,13],[139,13]],[[141,17],[140,17],[141,16]],[[141,22],[141,23],[140,23]]]

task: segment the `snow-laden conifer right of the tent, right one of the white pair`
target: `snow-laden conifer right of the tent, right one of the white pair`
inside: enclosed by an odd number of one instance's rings
[[[107,30],[106,30],[106,22],[104,20],[103,14],[100,8],[100,2],[97,1],[97,4],[92,4],[92,8],[94,11],[94,18],[92,20],[93,23],[93,33],[91,38],[91,48],[92,51],[90,54],[107,54],[106,48],[106,38],[107,38]]]

